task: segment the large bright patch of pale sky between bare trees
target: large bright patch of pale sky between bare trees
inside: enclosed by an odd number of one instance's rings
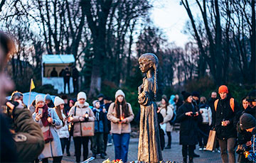
[[[180,2],[181,0],[152,0],[151,4],[154,7],[151,10],[151,19],[156,27],[166,33],[169,42],[183,47],[189,38],[189,35],[183,33],[189,18],[186,9],[180,5]],[[198,14],[195,9],[197,10],[196,4],[191,4],[192,12]]]

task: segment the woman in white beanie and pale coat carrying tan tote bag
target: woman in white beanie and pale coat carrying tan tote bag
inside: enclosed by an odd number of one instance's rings
[[[68,121],[74,124],[73,140],[75,143],[75,161],[80,162],[81,146],[83,160],[88,157],[88,142],[90,137],[82,137],[82,129],[80,123],[82,122],[94,122],[95,116],[92,109],[89,107],[89,103],[86,102],[86,94],[83,91],[78,93],[78,101],[70,109]],[[88,117],[86,117],[86,115]]]

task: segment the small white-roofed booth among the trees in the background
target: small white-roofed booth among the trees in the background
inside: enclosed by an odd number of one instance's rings
[[[42,84],[51,84],[54,89],[58,90],[58,94],[64,92],[63,77],[60,77],[60,73],[65,67],[68,67],[70,72],[70,66],[75,63],[74,55],[43,55],[42,57]],[[53,68],[58,73],[58,77],[50,77],[50,72]],[[66,86],[66,93],[68,93],[68,86]],[[73,92],[73,79],[70,77],[70,92]]]

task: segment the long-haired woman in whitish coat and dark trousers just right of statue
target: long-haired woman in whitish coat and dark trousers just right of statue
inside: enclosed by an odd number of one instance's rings
[[[169,121],[174,116],[174,108],[173,108],[173,106],[169,105],[169,102],[168,102],[168,100],[166,99],[165,96],[162,96],[162,99],[161,99],[160,113],[164,117],[164,121],[161,124],[166,123],[166,134],[168,136],[168,143],[167,143],[165,148],[166,149],[171,149],[171,130],[172,130],[172,126],[169,123]]]

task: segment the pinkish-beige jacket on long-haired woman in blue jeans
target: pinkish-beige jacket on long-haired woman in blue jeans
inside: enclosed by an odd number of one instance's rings
[[[114,103],[110,104],[110,108],[107,112],[107,119],[111,121],[111,133],[131,133],[131,125],[130,122],[134,119],[134,113],[132,112],[132,106],[128,103],[129,106],[129,117],[127,123],[120,123],[119,118],[117,118],[117,112],[114,108]],[[122,114],[122,107],[120,107],[120,113]]]

